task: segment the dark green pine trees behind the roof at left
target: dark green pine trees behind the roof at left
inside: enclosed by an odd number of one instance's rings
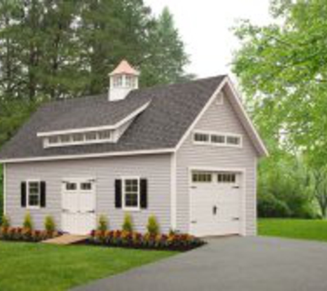
[[[42,101],[107,92],[121,59],[153,86],[184,77],[173,17],[143,0],[0,0],[0,146]]]

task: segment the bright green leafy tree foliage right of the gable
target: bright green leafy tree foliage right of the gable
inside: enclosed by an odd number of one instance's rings
[[[308,176],[316,177],[310,183],[326,188],[315,173],[324,172],[327,164],[327,3],[274,0],[271,15],[268,26],[243,21],[235,29],[242,48],[233,71],[273,157],[278,152],[291,154],[294,161],[301,157]],[[268,172],[275,171],[273,158],[264,163],[271,165]],[[327,199],[322,193],[318,196]],[[319,205],[326,213],[326,203]]]

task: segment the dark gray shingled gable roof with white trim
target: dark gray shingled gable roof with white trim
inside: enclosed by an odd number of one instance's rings
[[[126,99],[115,102],[107,101],[107,94],[103,94],[48,103],[41,106],[32,115],[30,121],[25,123],[21,130],[3,146],[0,159],[10,162],[23,159],[72,159],[125,155],[128,152],[140,154],[149,151],[173,152],[203,113],[204,108],[208,106],[209,101],[224,84],[228,83],[228,80],[223,75],[188,83],[133,90]],[[43,148],[42,139],[36,136],[38,132],[59,130],[61,126],[72,129],[81,128],[82,124],[84,128],[88,128],[115,123],[119,118],[145,105],[147,108],[135,117],[117,143]],[[65,122],[62,121],[64,119]],[[244,122],[251,123],[249,119]],[[257,133],[250,137],[253,138],[258,153],[265,154],[266,149]]]

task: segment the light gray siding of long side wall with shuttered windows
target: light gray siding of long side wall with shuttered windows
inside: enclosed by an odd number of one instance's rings
[[[109,218],[112,229],[120,229],[124,211],[114,207],[114,180],[122,176],[139,176],[148,181],[148,208],[131,212],[136,230],[144,232],[150,214],[155,214],[162,232],[170,228],[170,155],[108,157],[72,161],[11,163],[7,165],[6,210],[12,225],[19,226],[30,211],[35,228],[43,229],[46,215],[61,225],[61,183],[63,179],[96,179],[96,213]],[[47,207],[40,210],[21,208],[21,181],[46,181]]]

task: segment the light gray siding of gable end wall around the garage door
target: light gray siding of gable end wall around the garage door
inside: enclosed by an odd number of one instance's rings
[[[192,134],[184,140],[177,152],[177,228],[189,230],[189,168],[244,168],[246,170],[246,235],[256,234],[256,157],[249,137],[235,114],[231,103],[224,98],[224,104],[215,101],[204,112],[194,130],[208,130],[242,134],[242,148],[195,145]]]

